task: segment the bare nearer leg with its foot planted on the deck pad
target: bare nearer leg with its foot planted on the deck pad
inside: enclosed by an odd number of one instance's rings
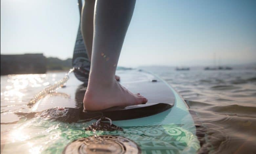
[[[84,97],[87,110],[146,103],[115,80],[117,62],[135,0],[96,0],[91,71]]]

